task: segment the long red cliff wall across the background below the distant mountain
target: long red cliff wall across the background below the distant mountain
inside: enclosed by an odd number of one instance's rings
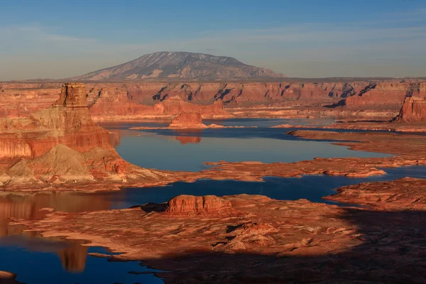
[[[0,82],[0,117],[25,117],[57,99],[60,82]],[[392,119],[406,96],[426,98],[425,80],[335,82],[89,82],[92,118],[337,116]],[[190,104],[188,104],[190,102]],[[225,105],[226,111],[223,109]]]

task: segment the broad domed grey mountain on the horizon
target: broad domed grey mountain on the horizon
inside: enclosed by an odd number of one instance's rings
[[[235,58],[204,53],[160,52],[143,55],[114,67],[97,70],[72,80],[187,79],[229,80],[285,77],[272,70],[246,65]]]

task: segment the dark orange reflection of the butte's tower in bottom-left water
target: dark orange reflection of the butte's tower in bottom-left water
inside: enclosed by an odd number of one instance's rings
[[[69,272],[83,272],[86,267],[87,247],[86,246],[70,246],[67,249],[58,251],[58,255],[62,262],[62,267]]]

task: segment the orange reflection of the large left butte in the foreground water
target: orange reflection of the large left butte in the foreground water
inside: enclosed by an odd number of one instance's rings
[[[9,220],[41,219],[48,213],[43,208],[55,208],[62,212],[85,212],[110,207],[109,200],[95,195],[72,192],[0,192],[0,244],[56,253],[65,270],[82,272],[86,263],[86,247],[73,241],[41,238],[34,231],[26,232],[22,226],[11,225]]]

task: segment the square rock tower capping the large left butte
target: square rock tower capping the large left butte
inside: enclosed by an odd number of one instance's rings
[[[86,86],[82,83],[65,83],[62,85],[59,99],[53,107],[87,107]]]

